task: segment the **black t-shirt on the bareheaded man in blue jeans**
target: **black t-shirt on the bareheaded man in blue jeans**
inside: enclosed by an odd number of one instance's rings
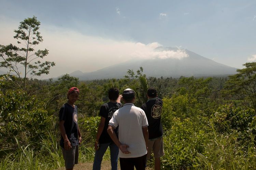
[[[107,129],[109,126],[109,121],[112,118],[113,114],[115,111],[117,111],[119,108],[121,108],[123,105],[122,103],[113,103],[113,102],[108,102],[108,103],[104,103],[101,107],[100,107],[100,116],[105,118],[105,124],[104,124],[104,129],[100,135],[100,139],[99,142],[100,143],[110,143],[113,142],[111,137],[109,136]],[[115,130],[116,136],[118,136],[117,131],[118,128],[116,128]]]

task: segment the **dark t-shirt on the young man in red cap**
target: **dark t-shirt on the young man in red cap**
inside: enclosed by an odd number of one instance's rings
[[[59,121],[64,120],[64,128],[71,146],[79,145],[77,130],[77,107],[72,107],[68,103],[61,106],[59,111]],[[60,146],[64,148],[64,139],[61,136]]]

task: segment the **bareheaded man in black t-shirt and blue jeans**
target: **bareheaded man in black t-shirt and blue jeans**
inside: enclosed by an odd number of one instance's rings
[[[119,90],[117,88],[109,89],[109,102],[104,103],[100,108],[99,115],[100,123],[98,127],[98,132],[95,140],[95,157],[93,170],[100,170],[101,161],[104,153],[110,148],[110,158],[111,158],[111,167],[112,170],[117,170],[117,161],[118,161],[118,151],[119,148],[115,145],[115,143],[110,138],[107,129],[109,125],[109,121],[112,118],[114,112],[122,107],[122,103],[120,100],[122,99],[122,95],[119,95]],[[118,128],[116,128],[115,133],[117,134]]]

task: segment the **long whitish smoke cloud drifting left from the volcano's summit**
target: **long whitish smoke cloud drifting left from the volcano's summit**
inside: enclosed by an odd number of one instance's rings
[[[0,44],[16,44],[13,38],[13,30],[17,29],[17,22],[6,22],[0,19]],[[182,50],[156,52],[154,49],[161,46],[157,42],[143,44],[134,41],[115,40],[99,36],[90,36],[79,32],[41,25],[39,32],[43,42],[36,49],[48,49],[49,54],[41,61],[53,61],[56,66],[52,67],[48,75],[43,79],[58,77],[76,70],[91,72],[104,67],[137,59],[181,59],[187,57]]]

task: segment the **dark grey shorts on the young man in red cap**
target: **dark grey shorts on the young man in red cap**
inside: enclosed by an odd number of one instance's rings
[[[61,147],[62,155],[65,160],[66,169],[72,169],[75,164],[78,164],[78,145],[72,146],[70,150]]]

